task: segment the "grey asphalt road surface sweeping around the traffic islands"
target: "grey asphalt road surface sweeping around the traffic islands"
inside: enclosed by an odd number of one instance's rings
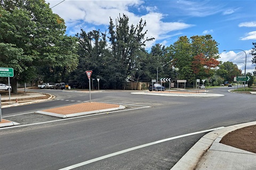
[[[89,94],[43,90],[57,98],[2,109],[3,117],[21,126],[0,129],[0,169],[61,169],[79,163],[76,169],[170,169],[205,134],[200,131],[256,121],[256,95],[228,89],[212,89],[225,96],[207,98],[92,93],[92,101],[127,109],[61,121],[31,112],[88,101]],[[47,123],[32,124],[39,122]],[[199,133],[181,136],[193,132]]]

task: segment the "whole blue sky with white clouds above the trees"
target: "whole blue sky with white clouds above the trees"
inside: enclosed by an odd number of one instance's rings
[[[172,1],[172,0],[46,0],[54,13],[65,19],[67,35],[100,29],[108,31],[109,17],[125,14],[130,24],[146,21],[147,49],[154,44],[170,46],[181,36],[212,35],[219,43],[219,61],[230,61],[244,73],[254,71],[252,43],[256,42],[256,1]],[[145,29],[145,31],[146,31]],[[224,49],[228,51],[223,52]],[[231,49],[231,50],[229,50]],[[233,50],[239,49],[239,50]],[[243,51],[244,50],[244,51]]]

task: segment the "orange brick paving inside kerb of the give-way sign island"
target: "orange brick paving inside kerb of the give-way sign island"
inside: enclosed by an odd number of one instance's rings
[[[43,110],[43,112],[67,115],[67,114],[73,114],[73,113],[98,111],[101,109],[109,109],[109,108],[117,108],[117,107],[119,107],[119,105],[92,102],[92,103],[81,103],[81,104],[75,104],[70,106],[46,109],[46,110]]]

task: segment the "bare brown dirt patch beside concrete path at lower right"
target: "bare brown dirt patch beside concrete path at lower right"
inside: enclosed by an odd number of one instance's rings
[[[220,143],[256,154],[256,125],[232,131],[226,134]]]

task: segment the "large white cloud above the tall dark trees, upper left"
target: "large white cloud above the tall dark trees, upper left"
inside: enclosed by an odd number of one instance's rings
[[[57,4],[57,1],[47,0],[46,2],[53,3],[50,6]],[[59,3],[60,1],[58,1]],[[161,36],[166,36],[171,31],[178,31],[193,27],[192,24],[184,22],[163,22],[164,14],[154,12],[157,10],[155,6],[143,6],[143,1],[65,1],[58,6],[52,8],[54,13],[60,15],[66,22],[68,27],[68,34],[80,32],[80,29],[84,30],[97,27],[96,29],[107,27],[109,25],[110,17],[115,23],[115,19],[119,17],[119,14],[123,14],[129,17],[129,24],[138,24],[140,19],[146,21],[145,27],[147,32],[146,37],[158,39]],[[142,16],[138,16],[129,11],[129,7],[136,7],[137,9],[145,9],[147,13]],[[106,31],[101,30],[101,31]],[[146,38],[145,37],[145,38]],[[156,40],[147,42],[146,46],[150,47]]]

